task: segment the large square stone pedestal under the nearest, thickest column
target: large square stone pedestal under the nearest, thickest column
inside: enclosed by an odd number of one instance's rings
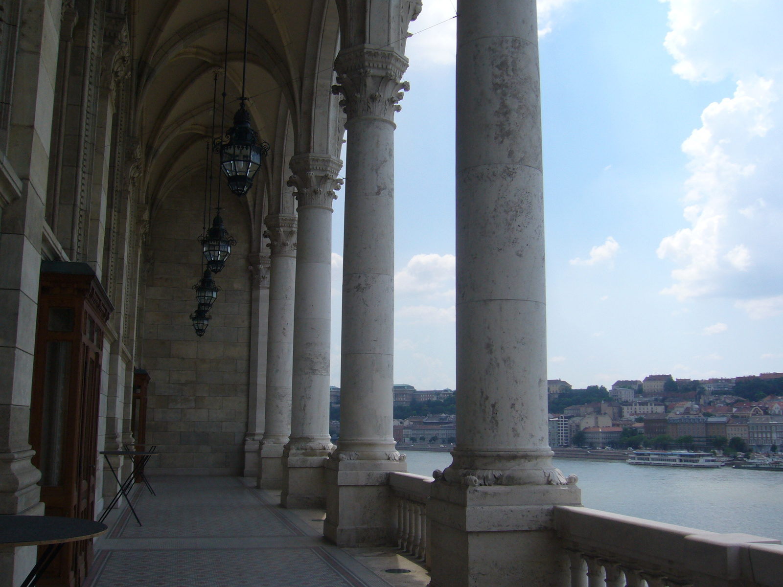
[[[435,481],[427,504],[430,587],[568,584],[568,554],[554,532],[556,505],[581,505],[576,484]]]

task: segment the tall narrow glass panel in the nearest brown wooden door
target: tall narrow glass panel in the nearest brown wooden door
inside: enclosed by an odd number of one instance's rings
[[[68,309],[68,308],[52,308]],[[51,320],[49,324],[51,325]],[[62,484],[63,438],[70,384],[70,340],[50,340],[46,348],[43,419],[41,422],[41,486]]]

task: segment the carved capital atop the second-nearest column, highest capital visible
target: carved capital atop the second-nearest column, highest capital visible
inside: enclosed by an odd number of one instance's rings
[[[395,51],[371,49],[358,45],[343,49],[334,59],[337,85],[334,95],[341,94],[340,106],[352,118],[381,118],[394,123],[394,113],[402,110],[399,101],[410,83],[402,81],[408,59]]]

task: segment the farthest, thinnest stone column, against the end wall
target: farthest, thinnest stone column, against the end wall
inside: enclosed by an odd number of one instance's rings
[[[244,477],[258,477],[258,448],[264,437],[266,353],[269,333],[269,255],[250,255],[253,276],[250,324],[250,387],[247,396]]]

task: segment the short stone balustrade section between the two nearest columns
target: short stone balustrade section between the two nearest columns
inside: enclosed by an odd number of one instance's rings
[[[395,500],[393,533],[395,545],[428,566],[429,544],[427,500],[432,477],[411,473],[389,474]]]

